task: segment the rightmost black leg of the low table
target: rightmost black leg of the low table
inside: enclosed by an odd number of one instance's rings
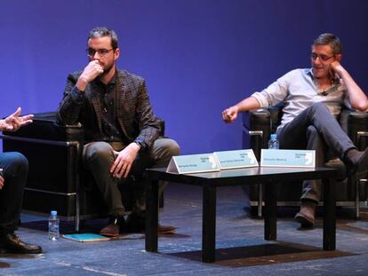
[[[324,250],[336,248],[335,179],[324,179]]]

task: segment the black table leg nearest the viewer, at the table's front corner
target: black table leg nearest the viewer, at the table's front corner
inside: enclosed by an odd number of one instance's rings
[[[202,261],[215,261],[216,247],[216,187],[204,185],[202,219]]]

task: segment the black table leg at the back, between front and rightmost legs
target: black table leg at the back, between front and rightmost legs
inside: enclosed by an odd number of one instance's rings
[[[265,240],[276,240],[277,185],[265,185]]]

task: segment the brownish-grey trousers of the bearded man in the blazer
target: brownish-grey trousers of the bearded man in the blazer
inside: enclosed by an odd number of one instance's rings
[[[121,151],[124,149],[122,143],[113,142],[92,142],[84,145],[83,164],[90,170],[95,184],[98,186],[101,197],[108,208],[108,215],[111,217],[124,216],[125,208],[122,201],[123,189],[121,186],[126,184],[126,179],[113,177],[109,172],[115,155],[113,150]],[[132,163],[129,177],[134,179],[132,184],[132,196],[134,197],[132,211],[144,213],[145,196],[143,174],[147,168],[166,167],[172,156],[180,154],[180,147],[176,141],[170,138],[157,138],[148,153],[140,153]],[[164,183],[160,183],[160,194],[164,190]]]

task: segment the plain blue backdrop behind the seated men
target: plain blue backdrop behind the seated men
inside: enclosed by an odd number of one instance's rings
[[[82,69],[90,28],[114,28],[118,67],[146,78],[156,114],[182,154],[241,147],[241,123],[223,108],[295,67],[309,66],[316,35],[344,43],[343,65],[368,91],[364,0],[2,0],[0,116],[59,105]]]

